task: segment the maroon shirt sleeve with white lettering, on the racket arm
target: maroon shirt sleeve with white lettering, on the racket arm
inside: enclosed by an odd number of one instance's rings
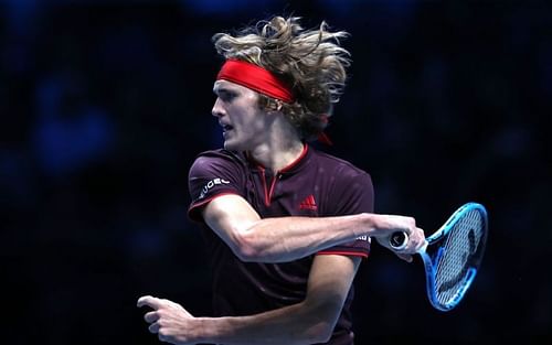
[[[230,154],[208,152],[200,154],[188,176],[191,203],[188,216],[194,222],[203,222],[201,211],[212,200],[225,194],[242,195],[240,166]]]

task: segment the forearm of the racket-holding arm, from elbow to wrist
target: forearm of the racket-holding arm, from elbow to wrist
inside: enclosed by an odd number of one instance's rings
[[[378,215],[264,218],[240,230],[242,259],[290,261],[374,233]]]

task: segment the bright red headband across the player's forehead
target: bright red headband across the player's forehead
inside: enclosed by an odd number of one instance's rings
[[[220,79],[240,84],[285,103],[294,103],[291,89],[272,72],[255,64],[240,60],[226,60],[216,76],[216,80]]]

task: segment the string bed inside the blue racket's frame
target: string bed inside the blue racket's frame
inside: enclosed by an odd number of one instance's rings
[[[479,265],[484,218],[476,209],[466,212],[452,224],[436,262],[436,298],[443,305],[452,303],[466,284],[470,268]]]

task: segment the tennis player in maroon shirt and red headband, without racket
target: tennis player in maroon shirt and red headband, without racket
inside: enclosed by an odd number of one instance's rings
[[[199,154],[191,219],[204,225],[216,317],[142,297],[149,331],[171,344],[353,344],[352,282],[370,238],[412,260],[424,234],[411,217],[373,214],[370,175],[309,145],[323,139],[346,83],[348,34],[274,17],[213,36],[224,63],[212,115],[224,149]]]

